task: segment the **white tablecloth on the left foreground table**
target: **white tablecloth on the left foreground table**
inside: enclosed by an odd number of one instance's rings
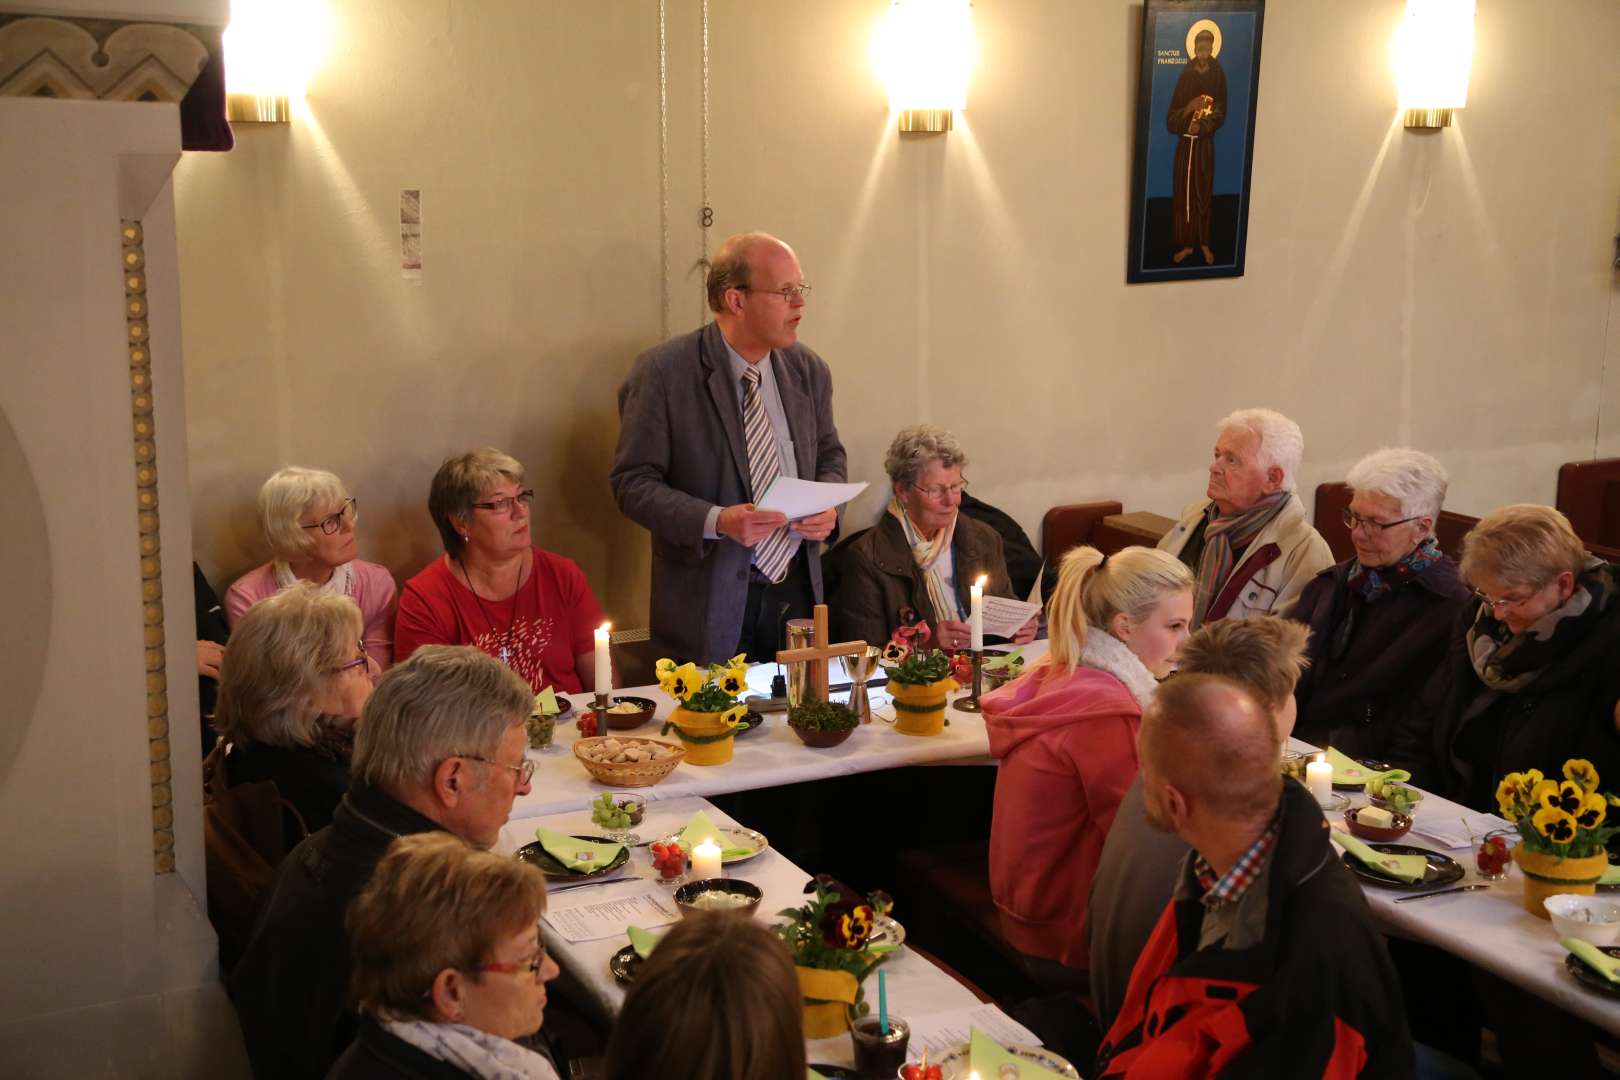
[[[889,735],[893,735],[893,732],[889,732]],[[904,738],[902,735],[893,737]],[[739,824],[706,800],[677,798],[650,803],[646,808],[646,818],[640,826],[637,826],[637,832],[643,840],[667,836],[669,832],[680,829],[698,810],[708,813],[714,824]],[[601,832],[598,826],[591,824],[590,813],[583,810],[552,814],[541,821],[510,821],[505,829],[502,829],[496,850],[502,853],[515,852],[518,847],[535,839],[536,826],[544,826],[559,832]],[[656,871],[651,866],[651,855],[646,847],[632,848],[629,868],[635,874],[633,878],[557,892],[549,899],[548,908],[564,910],[569,907],[598,904],[601,900],[630,895],[646,887],[646,882],[656,878]],[[791,863],[776,850],[768,850],[763,855],[757,855],[755,858],[742,863],[732,863],[726,868],[726,876],[740,878],[760,886],[765,899],[760,902],[755,918],[761,920],[768,926],[774,926],[781,921],[774,915],[776,912],[787,907],[799,907],[805,902],[804,887],[805,882],[810,881],[808,873]],[[904,925],[904,912],[894,912],[894,916],[901,921],[901,925]],[[612,973],[608,970],[608,960],[614,952],[627,944],[629,939],[624,936],[575,944],[562,941],[549,931],[546,934],[546,947],[551,949],[557,963],[586,988],[586,993],[591,997],[590,1004],[601,1009],[604,1017],[617,1015],[619,1006],[624,1002],[624,988],[614,981]],[[966,986],[910,949],[901,949],[897,954],[891,955],[885,962],[883,970],[888,972],[889,1009],[894,1015],[922,1017],[978,1004],[978,999]],[[873,1001],[876,999],[875,978],[876,976],[868,980],[867,986],[867,994]],[[807,1048],[812,1062],[846,1067],[854,1064],[847,1035],[829,1040],[816,1040],[807,1043]]]

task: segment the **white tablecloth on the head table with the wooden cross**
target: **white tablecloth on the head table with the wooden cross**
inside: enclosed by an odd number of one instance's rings
[[[1045,641],[1032,641],[1024,646],[1024,656],[1030,661],[1045,651]],[[834,665],[833,670],[836,672],[838,667]],[[755,664],[748,670],[750,691],[770,693],[774,674],[774,664]],[[838,682],[836,675],[834,682]],[[624,735],[679,742],[672,732],[667,737],[658,733],[674,709],[674,703],[658,687],[633,687],[614,693],[650,698],[658,703],[658,712],[651,721],[622,732]],[[548,750],[528,751],[528,756],[535,759],[535,779],[530,793],[512,805],[512,818],[539,818],[578,810],[601,792],[612,790],[598,784],[573,756],[573,743],[580,738],[573,721],[590,708],[591,695],[567,696],[573,701],[573,709],[559,721],[554,745]],[[833,696],[842,699],[847,693],[834,693]],[[750,792],[802,780],[896,769],[907,764],[990,763],[990,742],[985,738],[985,722],[978,714],[959,712],[946,706],[944,716],[949,724],[944,733],[901,735],[894,730],[894,709],[889,706],[888,695],[881,688],[875,688],[868,691],[868,696],[876,719],[855,729],[855,733],[838,746],[812,750],[787,729],[786,712],[766,712],[761,727],[737,737],[735,753],[726,764],[695,766],[682,761],[674,772],[653,787],[635,790],[654,801]],[[962,696],[966,691],[953,695],[953,701]]]

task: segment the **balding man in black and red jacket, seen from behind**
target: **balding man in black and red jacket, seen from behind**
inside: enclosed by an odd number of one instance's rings
[[[1131,973],[1095,1077],[1414,1075],[1401,989],[1277,729],[1213,675],[1160,687],[1144,810],[1192,852]]]

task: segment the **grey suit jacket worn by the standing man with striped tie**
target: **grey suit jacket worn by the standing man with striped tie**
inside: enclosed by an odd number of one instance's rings
[[[799,474],[846,478],[833,426],[833,376],[804,345],[774,351],[771,368]],[[742,410],[718,324],[642,353],[619,387],[612,491],[619,510],[653,534],[651,633],[658,656],[727,659],[742,631],[750,549],[703,539],[710,507],[752,502]],[[820,602],[820,544],[805,542]]]

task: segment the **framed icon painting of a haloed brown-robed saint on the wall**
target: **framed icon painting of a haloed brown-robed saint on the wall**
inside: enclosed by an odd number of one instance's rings
[[[1126,282],[1243,277],[1265,0],[1145,0]]]

